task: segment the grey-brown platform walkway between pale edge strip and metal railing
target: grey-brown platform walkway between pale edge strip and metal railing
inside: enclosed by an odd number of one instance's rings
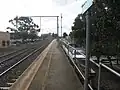
[[[57,41],[53,42],[28,90],[83,90]]]

